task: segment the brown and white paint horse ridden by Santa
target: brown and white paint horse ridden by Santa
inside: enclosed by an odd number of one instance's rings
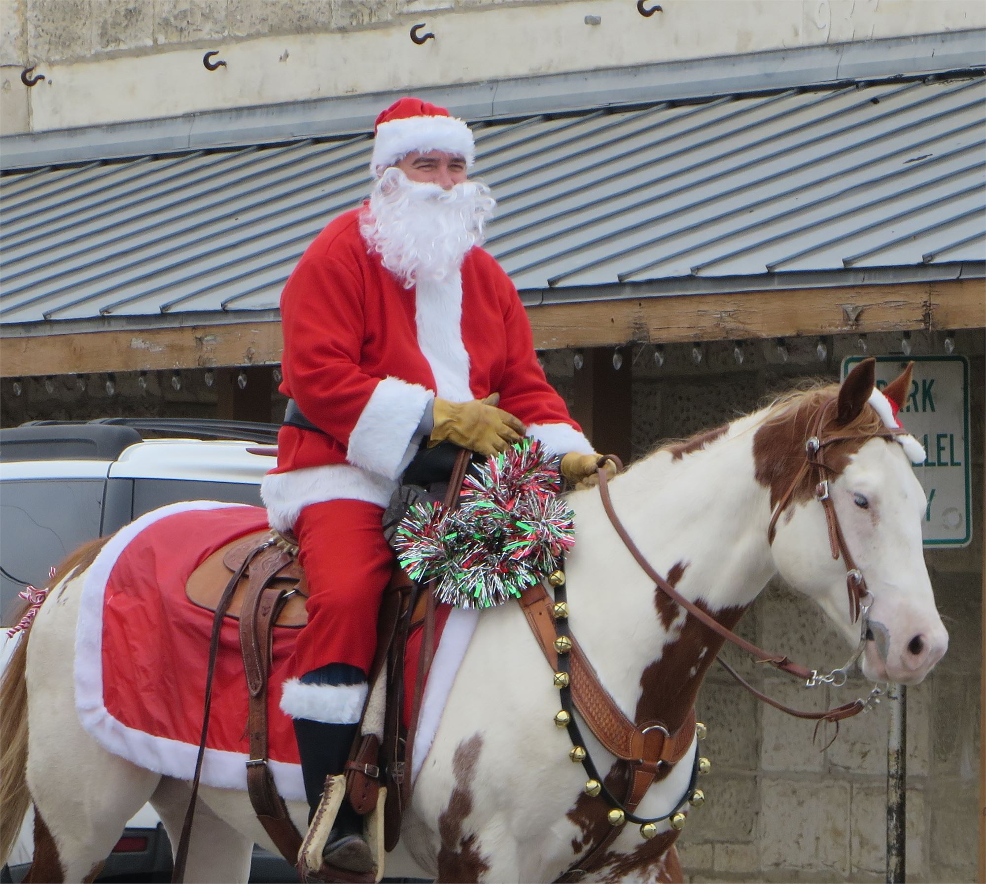
[[[793,394],[659,449],[610,482],[615,509],[654,567],[721,623],[734,626],[780,573],[855,643],[845,567],[829,553],[822,507],[809,487],[798,489],[773,544],[767,533],[773,506],[804,463],[810,415],[838,397],[845,428],[878,429],[880,417],[867,405],[872,388],[871,363],[841,389]],[[922,489],[901,446],[884,438],[838,443],[829,462],[837,468],[835,509],[873,595],[871,627],[880,637],[867,643],[863,672],[873,681],[919,682],[948,644],[922,555]],[[598,490],[575,491],[570,501],[578,532],[567,562],[572,633],[627,714],[674,728],[722,638],[656,592],[614,533]],[[187,782],[106,753],[79,724],[67,649],[86,566],[86,558],[77,560],[51,592],[0,700],[6,734],[22,728],[20,740],[3,746],[4,839],[33,802],[37,881],[90,879],[148,800],[175,842],[188,796]],[[568,737],[553,722],[557,708],[551,672],[519,607],[484,613],[387,874],[552,881],[601,839],[607,808],[583,793],[585,774],[569,760]],[[597,765],[608,770],[612,760],[587,738]],[[651,788],[638,814],[658,816],[677,804],[694,752]],[[252,843],[273,848],[246,793],[203,787],[199,800],[186,880],[246,881]],[[299,827],[307,810],[292,806]],[[662,824],[657,838],[644,841],[636,826],[626,826],[586,880],[680,880],[675,834]]]

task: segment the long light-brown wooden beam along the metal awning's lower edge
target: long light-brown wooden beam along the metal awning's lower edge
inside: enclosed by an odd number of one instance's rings
[[[981,329],[982,279],[768,289],[714,295],[547,304],[528,308],[538,349],[794,337],[799,334]],[[53,327],[53,330],[57,327]],[[280,323],[5,337],[0,377],[274,365]]]

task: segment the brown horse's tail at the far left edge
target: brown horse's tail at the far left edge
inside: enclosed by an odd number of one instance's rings
[[[103,549],[108,538],[99,538],[83,544],[55,568],[55,576],[48,583],[54,586],[62,581],[62,575],[86,570]],[[30,607],[25,602],[15,612],[19,621]],[[0,679],[0,865],[7,862],[10,851],[17,842],[21,824],[31,805],[28,790],[28,639],[31,626],[27,626],[14,648]],[[11,639],[14,640],[14,639]]]

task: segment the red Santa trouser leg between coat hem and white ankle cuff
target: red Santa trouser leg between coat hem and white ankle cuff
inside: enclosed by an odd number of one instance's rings
[[[363,500],[306,506],[295,522],[309,584],[308,624],[295,642],[289,672],[300,678],[329,663],[370,670],[377,616],[393,567],[384,510]]]

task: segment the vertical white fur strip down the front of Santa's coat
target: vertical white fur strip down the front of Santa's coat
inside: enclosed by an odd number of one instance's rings
[[[414,289],[418,346],[435,376],[442,399],[466,403],[469,388],[469,354],[462,343],[462,274],[447,279],[421,279]]]

